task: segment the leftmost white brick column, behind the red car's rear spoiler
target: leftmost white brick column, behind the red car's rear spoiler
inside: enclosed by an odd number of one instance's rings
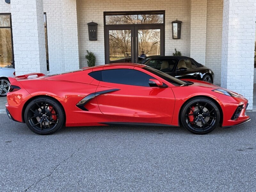
[[[43,0],[11,2],[16,75],[46,73]]]

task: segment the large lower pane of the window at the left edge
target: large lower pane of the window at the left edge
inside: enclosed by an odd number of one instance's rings
[[[0,67],[13,68],[11,28],[0,28]]]

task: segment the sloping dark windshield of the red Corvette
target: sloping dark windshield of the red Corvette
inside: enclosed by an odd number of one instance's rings
[[[177,79],[173,76],[167,75],[166,73],[163,73],[162,71],[159,71],[157,69],[154,69],[154,68],[151,68],[151,67],[148,67],[148,66],[143,67],[143,69],[161,77],[162,79],[164,79],[165,81],[168,81],[171,84],[174,84],[174,85],[177,85],[177,86],[186,84],[186,82],[181,81],[180,79]]]

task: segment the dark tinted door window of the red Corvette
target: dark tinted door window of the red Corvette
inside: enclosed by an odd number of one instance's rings
[[[102,78],[109,83],[149,87],[148,80],[153,77],[133,69],[108,69],[102,71]]]

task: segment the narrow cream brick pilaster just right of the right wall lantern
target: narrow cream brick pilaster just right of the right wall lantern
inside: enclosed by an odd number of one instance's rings
[[[190,57],[205,65],[207,0],[191,0]]]

